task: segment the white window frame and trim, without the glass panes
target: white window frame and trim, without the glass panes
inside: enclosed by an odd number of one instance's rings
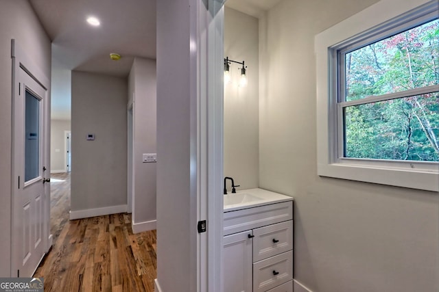
[[[402,3],[401,3],[402,2]],[[398,187],[439,191],[439,163],[344,157],[343,72],[340,51],[347,53],[438,18],[436,1],[382,0],[316,36],[318,175]],[[402,29],[404,27],[405,29]],[[326,68],[326,70],[325,70]],[[368,97],[369,102],[439,91],[439,85]],[[340,114],[341,113],[341,114]]]

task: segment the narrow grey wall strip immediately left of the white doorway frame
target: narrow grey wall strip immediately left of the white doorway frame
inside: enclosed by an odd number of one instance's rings
[[[198,0],[197,0],[198,1]],[[157,1],[157,279],[158,291],[196,291],[196,83],[190,23],[195,1]],[[191,11],[192,10],[192,11]],[[192,18],[191,18],[192,16]],[[191,78],[192,77],[192,78]],[[195,135],[195,141],[193,136]]]

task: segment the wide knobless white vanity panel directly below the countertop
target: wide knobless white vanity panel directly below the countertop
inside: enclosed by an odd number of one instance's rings
[[[292,201],[224,212],[224,235],[292,219]]]

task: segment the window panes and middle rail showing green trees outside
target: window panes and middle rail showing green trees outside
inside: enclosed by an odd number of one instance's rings
[[[439,21],[337,51],[342,157],[439,161]]]

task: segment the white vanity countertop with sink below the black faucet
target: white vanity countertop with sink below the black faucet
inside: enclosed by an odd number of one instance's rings
[[[246,196],[250,195],[250,196]],[[236,211],[239,209],[247,209],[252,207],[259,207],[265,204],[274,204],[278,202],[292,201],[294,198],[285,196],[283,194],[275,193],[274,191],[267,191],[266,189],[240,189],[236,194],[230,194],[224,196],[224,212]],[[226,201],[230,198],[243,198],[243,202],[237,202],[235,204],[226,204]],[[236,197],[233,197],[236,196]],[[233,197],[233,198],[232,198]],[[245,197],[245,198],[244,198]],[[248,199],[248,200],[246,200]]]

